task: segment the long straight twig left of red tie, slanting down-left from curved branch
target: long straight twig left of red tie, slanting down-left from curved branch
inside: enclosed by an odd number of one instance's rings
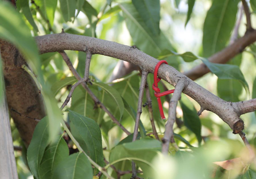
[[[133,133],[133,142],[136,141],[137,136],[138,136],[138,129],[139,129],[139,122],[140,122],[140,115],[142,113],[142,99],[143,99],[143,93],[145,89],[145,84],[146,84],[146,77],[147,77],[147,72],[142,71],[142,76],[141,76],[141,82],[140,82],[140,93],[139,93],[139,100],[138,100],[138,107],[137,107],[137,115],[136,115],[136,121],[135,121],[135,126],[134,126],[134,133]],[[143,131],[140,131],[143,132]],[[136,177],[136,165],[135,162],[132,161],[132,176]]]

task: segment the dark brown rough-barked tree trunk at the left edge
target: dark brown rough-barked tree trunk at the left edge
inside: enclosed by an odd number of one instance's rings
[[[3,61],[6,97],[9,109],[20,114],[41,119],[45,116],[44,104],[39,89],[31,76],[21,68],[26,64],[19,51],[11,44],[0,39],[0,50]],[[20,137],[28,146],[38,122],[10,112],[19,131]]]

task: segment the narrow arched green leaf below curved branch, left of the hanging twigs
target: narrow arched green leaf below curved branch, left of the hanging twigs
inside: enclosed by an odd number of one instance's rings
[[[108,84],[104,84],[100,82],[96,82],[93,84],[101,87],[104,91],[108,92],[114,98],[119,108],[120,119],[121,119],[121,117],[123,116],[124,104],[120,94],[116,91],[115,88],[113,88],[112,86],[109,86]]]

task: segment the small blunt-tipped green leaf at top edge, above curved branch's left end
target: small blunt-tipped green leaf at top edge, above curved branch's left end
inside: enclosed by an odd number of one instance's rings
[[[71,17],[75,17],[76,3],[73,0],[59,0],[59,3],[64,20],[71,21]]]

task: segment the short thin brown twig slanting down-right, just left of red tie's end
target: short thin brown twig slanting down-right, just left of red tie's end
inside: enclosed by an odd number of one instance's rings
[[[155,122],[154,122],[154,117],[153,117],[153,108],[152,108],[152,100],[151,100],[151,96],[150,96],[150,88],[148,88],[147,82],[146,82],[146,85],[145,85],[145,91],[146,91],[146,104],[147,104],[147,107],[148,107],[148,113],[150,114],[150,122],[151,122],[152,130],[153,130],[153,134],[154,134],[155,138],[157,140],[159,140],[159,137],[157,135]]]

